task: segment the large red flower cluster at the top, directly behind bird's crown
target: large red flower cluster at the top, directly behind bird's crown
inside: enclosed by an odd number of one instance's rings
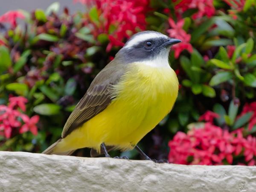
[[[98,29],[99,33],[109,34],[110,43],[107,51],[113,46],[123,46],[122,41],[138,30],[145,30],[145,13],[149,10],[148,0],[75,0],[87,6],[95,4],[104,18]]]

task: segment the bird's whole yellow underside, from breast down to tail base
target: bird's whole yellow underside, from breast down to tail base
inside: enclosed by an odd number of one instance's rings
[[[65,137],[55,152],[84,147],[99,151],[103,142],[131,149],[171,111],[177,93],[178,80],[172,68],[132,64],[113,87],[116,99]]]

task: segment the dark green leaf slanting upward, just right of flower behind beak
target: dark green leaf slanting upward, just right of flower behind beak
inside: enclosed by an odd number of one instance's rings
[[[215,17],[210,18],[206,22],[202,23],[198,28],[196,28],[191,34],[191,43],[194,43],[198,38],[215,23]]]

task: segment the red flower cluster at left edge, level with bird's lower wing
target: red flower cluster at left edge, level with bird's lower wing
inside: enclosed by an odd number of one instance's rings
[[[18,130],[19,133],[26,131],[31,131],[34,135],[38,133],[36,123],[39,121],[39,116],[35,115],[29,118],[29,116],[21,112],[26,111],[26,102],[26,98],[17,96],[9,98],[7,106],[0,105],[0,135],[8,139],[11,137],[12,131],[17,130],[17,128],[20,128]]]

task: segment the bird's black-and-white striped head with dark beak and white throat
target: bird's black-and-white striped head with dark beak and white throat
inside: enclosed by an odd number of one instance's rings
[[[181,42],[160,32],[144,31],[133,35],[116,57],[125,63],[145,62],[160,66],[168,63],[170,47]]]

